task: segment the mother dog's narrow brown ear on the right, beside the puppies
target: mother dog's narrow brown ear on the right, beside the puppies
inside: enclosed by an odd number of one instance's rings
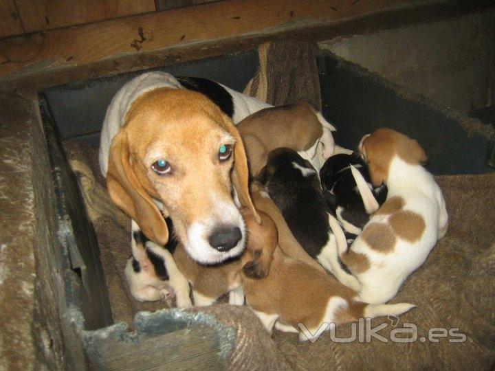
[[[254,215],[257,223],[261,223],[261,218],[256,212],[249,193],[249,170],[248,159],[245,154],[244,145],[241,139],[239,131],[232,123],[227,115],[221,113],[223,128],[225,128],[232,137],[234,137],[236,143],[234,146],[234,170],[232,171],[232,184],[239,197],[241,205],[248,207]]]

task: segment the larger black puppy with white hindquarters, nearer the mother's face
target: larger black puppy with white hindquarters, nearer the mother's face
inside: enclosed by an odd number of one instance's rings
[[[330,214],[318,172],[296,151],[277,148],[269,153],[257,179],[307,254],[330,270],[330,259],[335,260],[335,231],[343,232]]]

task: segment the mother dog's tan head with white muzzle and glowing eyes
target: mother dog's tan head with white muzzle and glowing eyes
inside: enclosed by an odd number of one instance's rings
[[[259,220],[237,129],[194,91],[160,88],[133,102],[111,144],[107,189],[148,238],[164,245],[162,209],[197,262],[222,262],[243,251],[245,226],[234,197]]]

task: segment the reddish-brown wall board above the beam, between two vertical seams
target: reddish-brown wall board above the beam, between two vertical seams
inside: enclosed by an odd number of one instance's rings
[[[15,1],[25,33],[155,11],[154,0]]]

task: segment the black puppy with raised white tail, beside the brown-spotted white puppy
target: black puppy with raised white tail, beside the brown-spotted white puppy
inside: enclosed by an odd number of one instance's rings
[[[320,170],[320,181],[330,209],[350,234],[360,234],[369,214],[386,200],[386,186],[371,186],[368,168],[358,152],[329,157]]]

